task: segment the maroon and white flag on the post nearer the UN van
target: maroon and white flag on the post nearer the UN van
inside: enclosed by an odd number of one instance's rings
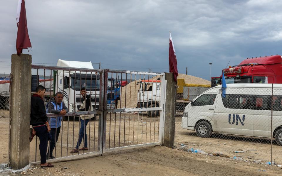
[[[177,70],[177,60],[176,60],[176,54],[174,50],[174,45],[172,42],[172,38],[169,31],[169,72],[173,73],[174,75],[174,81],[177,82],[177,76],[178,76],[178,70]]]

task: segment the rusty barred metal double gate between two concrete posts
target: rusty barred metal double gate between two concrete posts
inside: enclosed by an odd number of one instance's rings
[[[164,73],[32,65],[32,75],[36,75],[33,84],[46,87],[45,104],[51,99],[58,104],[58,97],[53,98],[62,92],[62,101],[69,110],[62,121],[60,114],[47,114],[49,122],[56,121],[53,132],[58,138],[53,143],[54,159],[48,162],[162,144]],[[93,111],[78,111],[83,101],[82,87],[86,88]],[[91,115],[89,122],[80,119],[87,115]],[[78,149],[87,148],[70,153],[79,141],[82,142]],[[31,164],[40,163],[38,144],[39,139],[34,137],[30,145]],[[50,144],[49,141],[48,158],[51,157]]]

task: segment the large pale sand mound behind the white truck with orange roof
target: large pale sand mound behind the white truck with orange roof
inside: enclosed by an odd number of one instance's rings
[[[153,80],[156,80],[160,76],[152,77]],[[148,79],[148,78],[145,78]],[[199,77],[179,74],[177,79],[184,79],[186,84],[210,84],[206,79]],[[121,89],[121,106],[120,101],[118,101],[117,108],[135,108],[137,106],[137,95],[140,88],[140,84],[136,85],[140,80],[132,81]],[[126,89],[126,91],[125,91]],[[125,92],[126,92],[126,106],[125,106]],[[131,92],[131,93],[130,93]]]

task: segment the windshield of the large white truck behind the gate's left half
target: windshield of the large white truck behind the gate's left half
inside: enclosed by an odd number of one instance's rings
[[[80,77],[71,77],[71,88],[75,90],[80,90],[81,87],[85,87],[87,91],[95,91],[100,89],[100,79],[90,79]]]

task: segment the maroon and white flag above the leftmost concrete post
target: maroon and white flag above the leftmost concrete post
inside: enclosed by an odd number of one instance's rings
[[[17,9],[17,26],[18,34],[16,41],[17,54],[23,53],[23,49],[31,49],[31,43],[27,31],[27,22],[26,22],[26,7],[24,0],[19,0],[18,9]]]

